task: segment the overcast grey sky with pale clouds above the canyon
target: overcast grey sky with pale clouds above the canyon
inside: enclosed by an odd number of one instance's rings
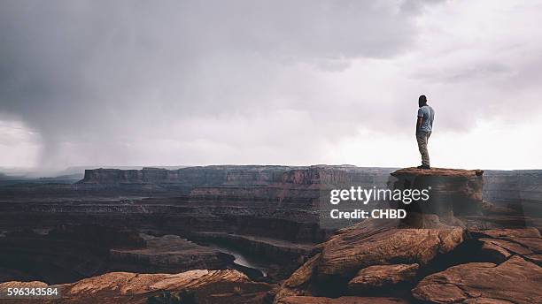
[[[0,166],[542,168],[541,1],[2,1]]]

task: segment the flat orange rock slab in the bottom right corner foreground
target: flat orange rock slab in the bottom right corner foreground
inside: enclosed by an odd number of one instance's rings
[[[539,303],[542,299],[540,286],[542,268],[515,255],[499,265],[470,262],[453,266],[423,278],[412,294],[418,300],[433,303],[473,302],[476,299],[484,299],[485,303],[496,300]]]

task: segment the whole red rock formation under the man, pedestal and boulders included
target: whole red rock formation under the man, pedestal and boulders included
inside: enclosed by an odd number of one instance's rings
[[[275,303],[356,302],[348,295],[437,303],[542,299],[536,287],[542,285],[540,227],[518,227],[518,215],[509,209],[491,209],[486,218],[481,173],[392,173],[391,183],[400,189],[431,186],[431,200],[423,208],[407,206],[406,219],[370,219],[339,230],[283,282]],[[512,225],[487,229],[496,224]],[[391,287],[383,292],[383,285]]]

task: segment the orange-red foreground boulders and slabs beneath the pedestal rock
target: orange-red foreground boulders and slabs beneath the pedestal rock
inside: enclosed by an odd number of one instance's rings
[[[283,282],[275,303],[305,303],[314,296],[318,296],[315,302],[334,303],[325,296],[366,296],[379,293],[385,285],[390,288],[383,294],[390,296],[400,282],[407,284],[399,287],[403,292],[397,296],[407,300],[405,286],[420,279],[412,294],[424,302],[536,303],[542,299],[537,287],[542,285],[542,238],[537,229],[464,231],[445,225],[390,229],[371,222],[346,228],[321,244],[321,253]],[[427,274],[433,268],[417,272],[417,265],[400,264],[418,262],[423,268],[437,259],[453,266]],[[352,270],[357,272],[352,274]],[[336,293],[327,294],[333,289]]]

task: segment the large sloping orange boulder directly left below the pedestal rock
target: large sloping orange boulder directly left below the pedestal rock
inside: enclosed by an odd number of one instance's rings
[[[433,223],[429,229],[403,229],[397,221],[366,220],[343,229],[319,245],[321,253],[283,283],[276,299],[345,294],[348,282],[360,270],[398,263],[426,265],[437,255],[444,255],[461,244],[464,237],[461,227],[437,220]]]

